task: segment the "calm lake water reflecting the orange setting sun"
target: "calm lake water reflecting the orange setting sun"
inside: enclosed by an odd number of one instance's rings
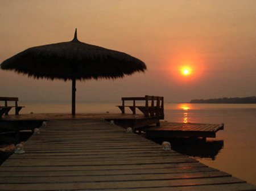
[[[119,113],[120,103],[77,103],[78,113]],[[71,105],[26,105],[21,113],[69,113]],[[176,150],[210,167],[256,185],[256,104],[164,104],[165,120],[172,122],[224,123],[224,130],[207,143],[187,144]]]

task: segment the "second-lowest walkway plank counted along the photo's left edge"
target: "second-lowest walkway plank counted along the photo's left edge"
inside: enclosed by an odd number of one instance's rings
[[[64,174],[65,175],[65,174]],[[75,176],[55,176],[54,179],[51,176],[46,177],[1,177],[0,184],[40,184],[40,183],[65,183],[65,182],[121,182],[121,181],[155,181],[155,180],[182,180],[182,179],[200,179],[210,177],[230,177],[228,173],[221,171],[210,172],[192,172],[186,173],[184,176],[182,173],[165,173],[159,174],[141,174],[141,175],[75,175]]]

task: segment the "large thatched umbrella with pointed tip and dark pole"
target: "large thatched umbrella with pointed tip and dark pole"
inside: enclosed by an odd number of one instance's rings
[[[72,114],[75,114],[76,80],[123,78],[146,65],[129,54],[77,40],[28,48],[3,61],[1,69],[28,77],[72,80]]]

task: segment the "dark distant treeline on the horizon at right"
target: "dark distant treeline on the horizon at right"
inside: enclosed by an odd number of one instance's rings
[[[195,99],[189,103],[200,103],[200,104],[256,104],[256,96],[251,97],[222,97],[216,99]]]

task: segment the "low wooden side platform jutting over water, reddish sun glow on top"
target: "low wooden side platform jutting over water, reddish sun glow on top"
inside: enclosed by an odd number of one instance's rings
[[[160,126],[143,128],[148,135],[155,137],[216,137],[216,132],[224,129],[224,124],[193,124],[160,122]]]

